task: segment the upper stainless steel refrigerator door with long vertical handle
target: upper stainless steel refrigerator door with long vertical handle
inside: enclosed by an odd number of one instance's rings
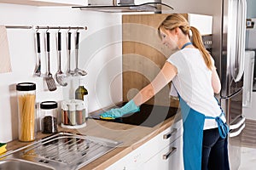
[[[223,53],[221,57],[222,97],[235,94],[239,88],[234,83],[241,81],[244,72],[246,0],[224,1]]]

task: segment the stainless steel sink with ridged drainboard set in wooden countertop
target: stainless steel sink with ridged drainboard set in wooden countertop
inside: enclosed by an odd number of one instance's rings
[[[56,133],[0,156],[3,169],[79,169],[121,142],[74,133]]]

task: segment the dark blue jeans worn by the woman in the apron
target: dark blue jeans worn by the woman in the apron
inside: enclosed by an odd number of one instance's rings
[[[226,139],[219,136],[218,128],[204,130],[201,170],[227,170]]]

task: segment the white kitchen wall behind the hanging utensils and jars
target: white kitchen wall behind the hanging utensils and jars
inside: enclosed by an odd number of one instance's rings
[[[88,31],[80,31],[79,67],[88,72],[88,76],[85,77],[85,87],[89,90],[89,111],[95,111],[122,99],[119,14],[88,12],[70,7],[0,4],[0,16],[0,25],[4,26],[88,26]],[[44,31],[39,31],[43,36]],[[54,33],[56,31],[50,32],[51,73],[55,74],[57,55]],[[62,32],[64,34],[67,31]],[[35,82],[38,103],[44,100],[55,100],[60,103],[62,99],[71,99],[73,90],[78,85],[78,79],[72,79],[67,88],[57,86],[55,92],[49,92],[41,77],[33,77],[36,63],[34,33],[34,29],[8,29],[13,71],[0,74],[0,142],[8,142],[18,137],[16,83]],[[62,37],[64,43],[65,38]],[[43,43],[43,40],[41,42]],[[44,44],[42,45],[42,71],[45,72]],[[67,69],[66,45],[62,46],[64,71]],[[72,57],[74,59],[74,55]]]

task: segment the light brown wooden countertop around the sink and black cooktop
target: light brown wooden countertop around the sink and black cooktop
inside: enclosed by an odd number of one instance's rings
[[[96,159],[96,161],[92,161],[90,164],[81,168],[82,170],[104,169],[112,165],[115,161],[118,161],[120,158],[129,154],[132,150],[136,150],[148,140],[153,139],[154,136],[163,132],[167,127],[171,127],[172,123],[177,122],[178,120],[180,120],[180,114],[176,114],[175,116],[166,119],[165,122],[162,122],[154,127],[143,127],[88,119],[86,122],[86,127],[80,129],[67,129],[59,127],[58,130],[59,132],[80,133],[123,142],[123,144],[121,144],[118,148],[108,152],[107,154]],[[42,139],[48,135],[38,133],[37,139]],[[26,144],[31,143],[24,143],[20,142],[19,140],[15,140],[9,142],[7,145],[7,150],[15,150],[25,146]]]

